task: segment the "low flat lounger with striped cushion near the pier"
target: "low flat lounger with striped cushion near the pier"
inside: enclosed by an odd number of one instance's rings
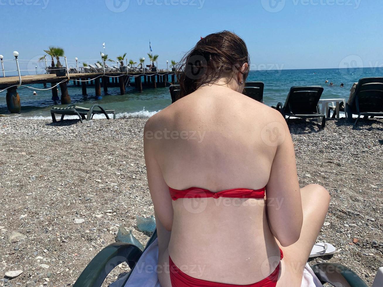
[[[98,108],[98,109],[95,109]],[[116,111],[115,110],[107,110],[103,109],[99,104],[94,104],[92,108],[83,108],[76,106],[74,104],[70,104],[66,108],[57,108],[53,107],[51,109],[52,121],[57,122],[55,114],[61,114],[61,121],[64,120],[64,116],[79,116],[80,121],[93,119],[95,114],[105,114],[107,119],[110,119],[108,114],[113,114],[113,119],[116,119]]]

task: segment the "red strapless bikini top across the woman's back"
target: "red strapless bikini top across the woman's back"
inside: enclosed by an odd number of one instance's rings
[[[178,198],[206,198],[206,197],[233,197],[233,198],[264,198],[265,189],[246,189],[246,188],[234,188],[226,189],[218,192],[211,192],[208,189],[203,188],[188,188],[184,190],[177,190],[169,187],[170,196],[173,200]]]

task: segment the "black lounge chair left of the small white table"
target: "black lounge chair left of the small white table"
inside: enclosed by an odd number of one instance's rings
[[[299,117],[301,119],[322,118],[321,128],[326,125],[326,115],[320,113],[319,99],[323,93],[321,86],[311,87],[291,87],[287,95],[285,104],[281,102],[272,108],[277,109],[288,121],[290,117]],[[318,121],[319,122],[319,121]]]

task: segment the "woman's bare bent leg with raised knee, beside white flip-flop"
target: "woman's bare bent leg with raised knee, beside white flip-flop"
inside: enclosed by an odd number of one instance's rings
[[[301,236],[283,251],[281,276],[277,287],[301,286],[303,269],[323,225],[330,203],[329,192],[319,184],[301,188],[303,225]],[[286,283],[289,282],[288,285]]]

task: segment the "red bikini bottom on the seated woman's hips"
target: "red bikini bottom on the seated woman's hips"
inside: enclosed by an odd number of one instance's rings
[[[281,250],[281,259],[283,258],[283,253]],[[172,287],[275,287],[277,285],[280,264],[273,271],[270,276],[250,285],[233,285],[233,284],[224,284],[218,282],[210,282],[206,280],[196,279],[185,273],[183,273],[177,266],[173,263],[172,259],[169,256],[169,265],[170,265],[170,282],[172,282]]]

